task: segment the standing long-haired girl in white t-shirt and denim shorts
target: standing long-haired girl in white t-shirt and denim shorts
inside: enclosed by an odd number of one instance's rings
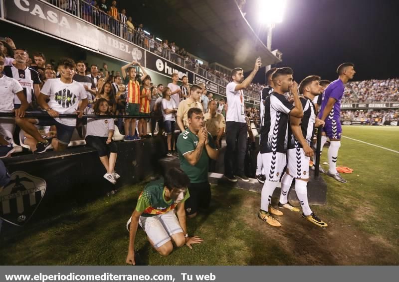
[[[162,115],[164,116],[164,128],[168,134],[168,157],[177,157],[175,150],[175,122],[176,122],[176,102],[171,99],[172,90],[166,87],[162,92],[164,98],[162,99]],[[172,150],[173,148],[173,150]]]

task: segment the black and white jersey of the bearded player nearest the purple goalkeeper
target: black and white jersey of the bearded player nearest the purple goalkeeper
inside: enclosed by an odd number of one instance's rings
[[[303,108],[303,117],[301,120],[301,131],[303,137],[306,140],[306,143],[310,146],[312,142],[312,137],[315,132],[315,122],[316,122],[316,109],[313,101],[308,97],[299,97],[302,108]],[[288,129],[290,142],[288,144],[288,149],[302,148],[302,145],[295,138],[294,134],[291,131],[291,127]]]

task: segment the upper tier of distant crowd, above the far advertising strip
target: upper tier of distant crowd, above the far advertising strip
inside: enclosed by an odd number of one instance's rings
[[[342,103],[398,102],[399,79],[348,82]]]

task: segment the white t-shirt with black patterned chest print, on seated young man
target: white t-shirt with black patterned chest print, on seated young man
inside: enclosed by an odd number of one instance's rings
[[[61,82],[61,79],[48,79],[43,85],[40,93],[50,96],[49,107],[58,113],[73,114],[79,105],[79,100],[87,97],[83,86],[72,81],[70,84]],[[68,126],[76,125],[76,118],[54,118],[61,124]]]

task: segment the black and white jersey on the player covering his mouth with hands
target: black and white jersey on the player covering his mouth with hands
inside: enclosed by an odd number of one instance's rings
[[[264,126],[260,130],[260,153],[285,153],[288,147],[288,113],[294,106],[282,94],[265,99]]]

